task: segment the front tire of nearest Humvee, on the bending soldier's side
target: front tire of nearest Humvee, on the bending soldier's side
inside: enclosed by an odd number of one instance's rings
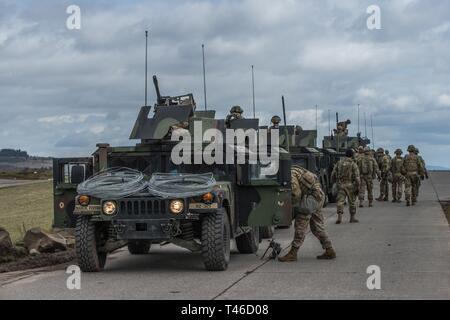
[[[224,208],[202,220],[202,257],[206,270],[223,271],[230,262],[230,222]]]

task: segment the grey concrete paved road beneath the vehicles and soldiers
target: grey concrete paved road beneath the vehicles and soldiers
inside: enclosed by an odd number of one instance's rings
[[[321,248],[311,235],[297,263],[260,260],[263,243],[258,256],[233,254],[226,272],[204,271],[199,255],[171,246],[146,256],[120,251],[105,272],[83,274],[81,290],[66,289],[62,270],[0,275],[0,299],[450,299],[450,232],[436,195],[450,195],[450,184],[437,183],[449,178],[433,174],[411,209],[360,210],[356,225],[335,225],[334,207],[326,208],[334,261],[315,259]],[[287,247],[291,233],[276,238]],[[366,287],[370,265],[381,268],[381,290]]]

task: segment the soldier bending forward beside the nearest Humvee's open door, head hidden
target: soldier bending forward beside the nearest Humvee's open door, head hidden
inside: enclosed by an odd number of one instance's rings
[[[319,239],[325,252],[317,259],[334,259],[331,241],[325,231],[322,207],[325,202],[319,179],[312,172],[300,167],[292,166],[292,206],[295,214],[295,233],[291,250],[278,260],[281,262],[297,261],[297,252],[305,240],[308,225],[312,234]]]

